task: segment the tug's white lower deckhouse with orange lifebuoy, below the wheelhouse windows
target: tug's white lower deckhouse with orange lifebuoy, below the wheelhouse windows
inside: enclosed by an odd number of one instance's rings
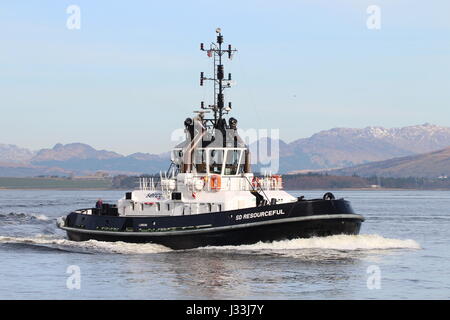
[[[255,194],[266,204],[297,201],[282,190],[279,175],[255,178],[253,173],[244,172],[173,172],[158,182],[141,178],[140,186],[118,201],[119,215],[177,216],[244,209],[257,206]]]

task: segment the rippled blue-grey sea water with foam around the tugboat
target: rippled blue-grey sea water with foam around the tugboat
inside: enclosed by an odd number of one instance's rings
[[[174,251],[56,228],[123,193],[0,190],[0,299],[450,298],[447,191],[334,191],[366,218],[357,236]]]

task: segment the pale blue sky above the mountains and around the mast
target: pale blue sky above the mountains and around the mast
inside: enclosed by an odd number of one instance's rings
[[[79,29],[67,27],[71,5]],[[291,142],[333,127],[450,126],[449,12],[444,0],[2,1],[0,143],[169,150],[211,103],[199,44],[217,27],[238,50],[226,100],[241,128]]]

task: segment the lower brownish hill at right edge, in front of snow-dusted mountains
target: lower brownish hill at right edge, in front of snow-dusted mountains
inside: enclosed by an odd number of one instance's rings
[[[377,161],[350,168],[331,170],[329,174],[362,177],[450,177],[450,148],[414,156]]]

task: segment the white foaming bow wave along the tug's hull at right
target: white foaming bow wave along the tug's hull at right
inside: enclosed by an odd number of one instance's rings
[[[335,235],[329,237],[314,237],[308,239],[293,239],[274,241],[270,243],[258,242],[250,245],[205,247],[203,249],[225,249],[246,251],[281,251],[301,249],[323,250],[384,250],[384,249],[420,249],[420,245],[412,239],[384,238],[377,234]]]

